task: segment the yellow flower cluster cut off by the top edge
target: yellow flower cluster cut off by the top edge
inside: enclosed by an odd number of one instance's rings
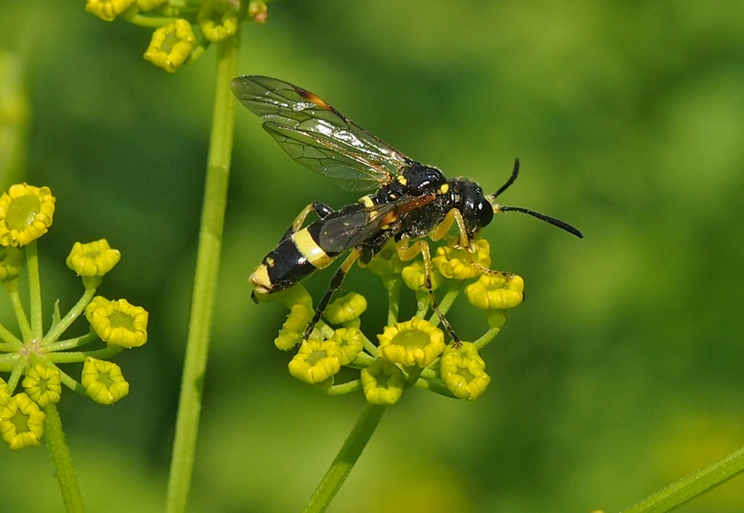
[[[87,0],[86,10],[106,22],[155,28],[144,58],[171,73],[211,42],[235,36],[243,20],[265,23],[268,13],[263,1],[240,0]]]

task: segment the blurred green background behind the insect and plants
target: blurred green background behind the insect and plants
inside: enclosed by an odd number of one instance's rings
[[[46,311],[81,292],[63,262],[72,243],[103,237],[122,260],[100,293],[150,311],[147,345],[116,360],[129,397],[107,408],[63,394],[83,496],[92,512],[161,511],[214,48],[167,74],[141,57],[150,31],[102,22],[82,1],[2,5],[6,122],[23,117],[14,74],[28,100],[28,171],[13,179],[57,197],[39,246]],[[586,234],[519,214],[487,227],[494,267],[528,290],[483,351],[490,388],[472,404],[405,394],[330,511],[616,511],[742,445],[742,2],[277,1],[267,25],[246,26],[240,74],[304,86],[490,191],[518,156],[504,203]],[[272,344],[285,311],[254,305],[247,276],[308,202],[356,195],[236,108],[190,511],[296,511],[362,397],[327,398],[287,374]],[[328,277],[310,281],[316,297]],[[61,511],[44,447],[0,450],[0,468],[4,511]],[[743,489],[734,479],[680,511],[740,512]]]

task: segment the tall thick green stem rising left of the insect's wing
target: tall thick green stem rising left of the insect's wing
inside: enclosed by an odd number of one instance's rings
[[[217,76],[204,205],[199,229],[199,249],[196,254],[179,411],[176,418],[176,436],[170,460],[166,502],[166,511],[169,513],[184,511],[193,471],[193,454],[199,430],[199,414],[202,410],[202,386],[217,289],[219,251],[222,245],[222,226],[225,220],[233,145],[234,98],[230,92],[230,80],[236,74],[239,46],[240,40],[237,35],[217,44]]]

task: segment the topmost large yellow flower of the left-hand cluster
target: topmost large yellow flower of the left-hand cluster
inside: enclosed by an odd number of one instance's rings
[[[24,246],[47,232],[54,215],[48,187],[11,185],[0,197],[0,244]]]

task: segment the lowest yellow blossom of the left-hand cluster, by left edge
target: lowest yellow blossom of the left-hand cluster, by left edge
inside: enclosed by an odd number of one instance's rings
[[[44,436],[44,412],[25,393],[0,406],[0,436],[10,450],[39,445]]]

